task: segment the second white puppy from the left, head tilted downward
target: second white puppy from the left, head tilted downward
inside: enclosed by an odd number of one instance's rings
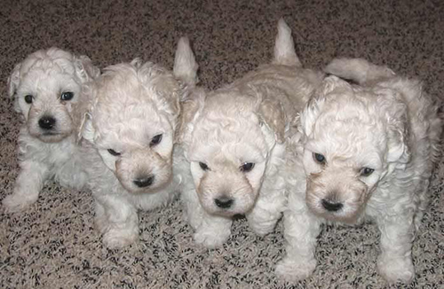
[[[86,87],[92,103],[83,141],[95,220],[107,247],[139,237],[137,210],[162,207],[177,195],[173,140],[184,88],[173,75],[139,59],[108,66]],[[176,154],[178,158],[176,158]]]

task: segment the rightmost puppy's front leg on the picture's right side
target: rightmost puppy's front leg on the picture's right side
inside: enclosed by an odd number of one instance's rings
[[[414,239],[412,215],[381,215],[377,219],[381,231],[381,254],[377,259],[379,273],[389,283],[410,283],[415,277],[411,258]]]

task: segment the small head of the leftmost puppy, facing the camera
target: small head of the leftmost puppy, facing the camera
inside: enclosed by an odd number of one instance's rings
[[[15,66],[9,95],[28,132],[44,142],[58,142],[75,131],[73,114],[84,82],[99,74],[85,56],[51,48],[36,51]]]

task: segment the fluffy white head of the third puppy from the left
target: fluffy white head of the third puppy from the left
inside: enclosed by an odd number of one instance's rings
[[[281,107],[248,91],[195,90],[184,105],[183,141],[202,207],[210,214],[245,214],[258,197],[279,140]],[[191,112],[191,113],[190,113]],[[278,114],[278,115],[275,115]]]

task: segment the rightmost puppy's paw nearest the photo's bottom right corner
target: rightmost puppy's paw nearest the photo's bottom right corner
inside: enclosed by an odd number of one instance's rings
[[[415,268],[409,257],[381,255],[377,260],[377,269],[390,284],[397,281],[408,284],[415,277]]]

